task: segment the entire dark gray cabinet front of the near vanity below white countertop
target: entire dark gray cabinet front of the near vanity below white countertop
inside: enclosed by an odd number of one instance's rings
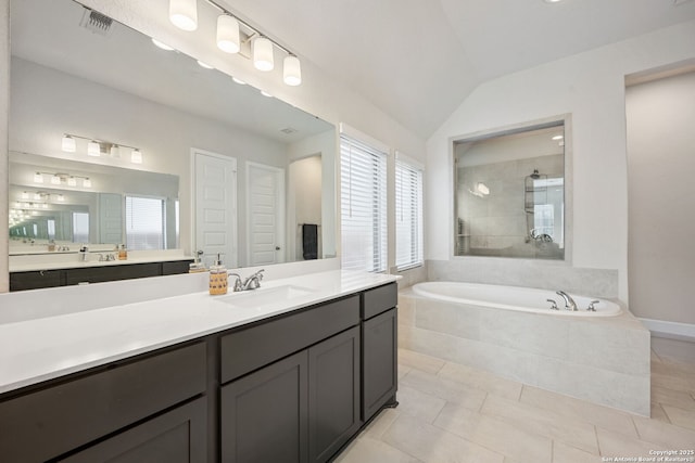
[[[332,459],[395,403],[388,284],[0,395],[0,460]]]

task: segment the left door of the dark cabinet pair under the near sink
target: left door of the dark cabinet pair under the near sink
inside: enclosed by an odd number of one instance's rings
[[[306,350],[222,387],[222,461],[307,461]]]

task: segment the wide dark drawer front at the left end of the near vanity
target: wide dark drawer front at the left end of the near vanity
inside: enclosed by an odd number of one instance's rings
[[[205,372],[198,343],[1,402],[0,455],[61,455],[203,393]]]

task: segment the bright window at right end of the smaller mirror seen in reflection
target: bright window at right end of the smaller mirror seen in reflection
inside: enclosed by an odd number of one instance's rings
[[[128,249],[164,249],[164,200],[126,196]]]

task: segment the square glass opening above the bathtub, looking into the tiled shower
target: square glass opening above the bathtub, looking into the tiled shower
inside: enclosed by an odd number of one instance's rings
[[[456,256],[564,260],[565,120],[454,141]]]

